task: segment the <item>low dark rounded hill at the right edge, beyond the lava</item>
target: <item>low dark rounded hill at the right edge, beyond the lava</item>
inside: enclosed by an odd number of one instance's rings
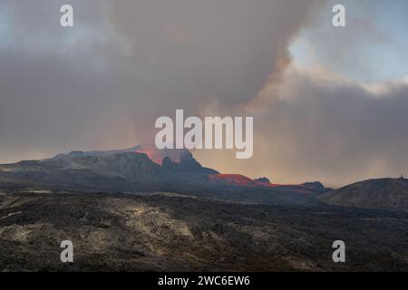
[[[319,197],[330,204],[408,211],[408,179],[369,179]]]

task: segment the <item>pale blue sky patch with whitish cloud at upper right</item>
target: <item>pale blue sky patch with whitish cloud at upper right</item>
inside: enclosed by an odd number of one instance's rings
[[[358,82],[378,82],[406,73],[406,1],[343,0],[346,27],[334,28],[335,0],[321,6],[314,22],[291,43],[296,62],[323,63],[336,73]]]

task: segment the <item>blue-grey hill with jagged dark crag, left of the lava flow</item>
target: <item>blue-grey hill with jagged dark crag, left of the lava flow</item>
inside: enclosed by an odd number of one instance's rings
[[[208,174],[218,173],[203,168],[189,152],[179,162],[168,156],[163,160],[160,165],[139,151],[74,151],[52,159],[0,165],[0,187],[9,181],[52,189],[133,191],[162,189],[169,182],[203,184]]]

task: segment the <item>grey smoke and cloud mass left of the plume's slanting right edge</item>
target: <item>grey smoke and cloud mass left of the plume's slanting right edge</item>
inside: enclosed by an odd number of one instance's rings
[[[153,140],[157,117],[248,101],[312,1],[0,4],[0,160]]]

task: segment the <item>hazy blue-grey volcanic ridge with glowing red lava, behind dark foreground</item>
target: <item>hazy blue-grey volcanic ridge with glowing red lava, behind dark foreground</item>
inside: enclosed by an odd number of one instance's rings
[[[0,189],[101,192],[171,191],[228,201],[305,204],[326,192],[319,182],[272,184],[201,166],[189,150],[72,151],[52,159],[0,164]]]

